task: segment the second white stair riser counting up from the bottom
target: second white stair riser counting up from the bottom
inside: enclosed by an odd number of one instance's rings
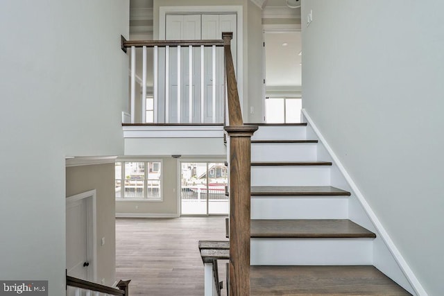
[[[348,197],[253,196],[252,219],[346,219]]]

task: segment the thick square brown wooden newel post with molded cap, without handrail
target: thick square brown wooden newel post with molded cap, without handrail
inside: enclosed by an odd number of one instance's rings
[[[230,296],[250,295],[250,146],[256,130],[225,127],[230,136]]]

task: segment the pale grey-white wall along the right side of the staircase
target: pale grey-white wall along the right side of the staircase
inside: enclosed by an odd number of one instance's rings
[[[444,3],[302,6],[303,105],[428,295],[444,295]]]

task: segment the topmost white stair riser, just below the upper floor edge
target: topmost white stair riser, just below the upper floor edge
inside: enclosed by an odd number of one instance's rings
[[[306,126],[259,126],[252,140],[304,140],[307,137]]]

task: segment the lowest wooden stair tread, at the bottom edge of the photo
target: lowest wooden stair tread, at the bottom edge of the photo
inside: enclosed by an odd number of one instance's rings
[[[251,296],[411,295],[372,265],[251,266]]]

